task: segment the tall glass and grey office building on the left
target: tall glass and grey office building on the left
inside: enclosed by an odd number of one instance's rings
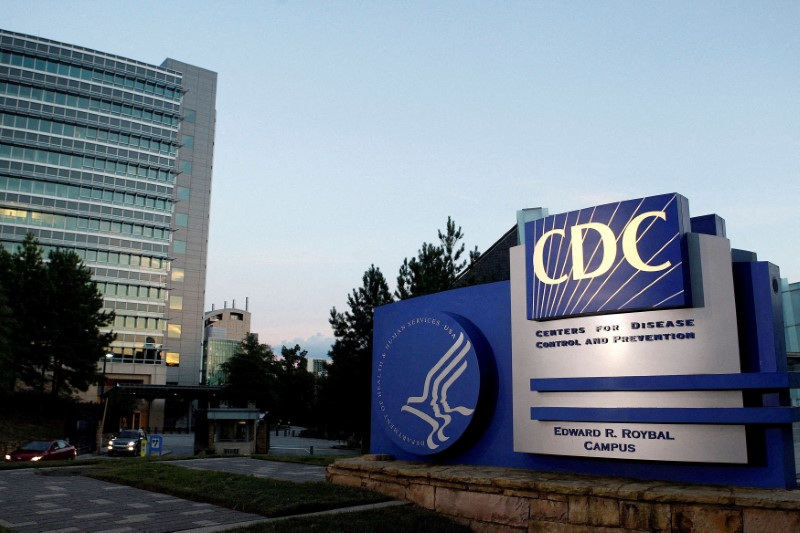
[[[0,30],[0,246],[91,269],[109,385],[200,382],[215,99],[199,67]]]

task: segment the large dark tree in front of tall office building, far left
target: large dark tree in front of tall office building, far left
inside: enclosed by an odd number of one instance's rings
[[[87,390],[114,340],[100,331],[114,314],[103,311],[89,269],[71,251],[53,251],[45,261],[28,234],[14,254],[0,254],[0,273],[0,317],[9,317],[2,319],[5,334],[0,330],[5,388],[14,392],[21,383],[54,398]]]

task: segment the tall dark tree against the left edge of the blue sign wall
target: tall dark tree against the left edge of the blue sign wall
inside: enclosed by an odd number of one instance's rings
[[[393,301],[380,269],[370,265],[362,285],[347,297],[348,311],[334,307],[328,322],[335,341],[328,355],[327,377],[320,386],[320,405],[326,420],[339,431],[361,440],[369,448],[372,377],[373,310]]]

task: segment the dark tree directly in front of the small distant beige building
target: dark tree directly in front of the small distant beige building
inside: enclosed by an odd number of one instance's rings
[[[248,333],[233,356],[222,363],[222,398],[232,407],[255,403],[261,410],[270,409],[276,400],[275,353],[258,336]]]

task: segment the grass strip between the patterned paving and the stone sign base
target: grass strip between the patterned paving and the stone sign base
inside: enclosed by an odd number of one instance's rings
[[[97,466],[86,475],[267,517],[314,513],[388,500],[382,494],[355,487],[197,471],[164,462],[115,461]]]

